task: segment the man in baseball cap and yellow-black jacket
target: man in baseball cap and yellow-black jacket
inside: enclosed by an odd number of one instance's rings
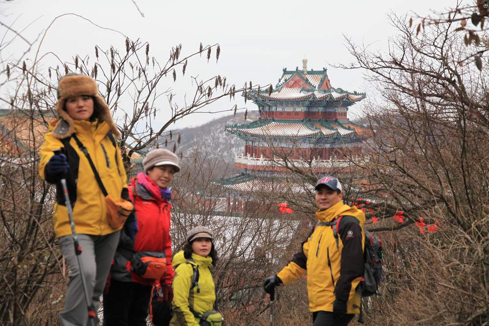
[[[318,223],[277,275],[265,280],[265,291],[299,279],[307,272],[309,308],[313,326],[348,325],[360,312],[356,291],[363,275],[365,214],[343,203],[342,186],[333,176],[316,183]]]

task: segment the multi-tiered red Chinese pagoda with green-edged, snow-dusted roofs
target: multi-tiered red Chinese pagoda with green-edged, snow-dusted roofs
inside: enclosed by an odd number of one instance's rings
[[[255,184],[254,176],[267,176],[287,169],[277,152],[287,153],[289,162],[312,168],[321,174],[346,168],[351,161],[345,149],[360,155],[366,130],[348,119],[348,108],[366,97],[331,86],[327,69],[283,69],[278,84],[270,90],[252,90],[243,94],[260,112],[258,120],[226,126],[226,131],[244,140],[244,151],[235,165],[244,173],[222,180],[229,190],[245,191]],[[261,183],[264,184],[264,183]]]

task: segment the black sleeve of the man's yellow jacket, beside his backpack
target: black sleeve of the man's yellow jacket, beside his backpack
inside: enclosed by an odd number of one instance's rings
[[[336,282],[334,294],[337,300],[347,302],[352,282],[363,275],[362,230],[355,217],[342,217],[338,236],[343,242],[341,251],[340,277]]]

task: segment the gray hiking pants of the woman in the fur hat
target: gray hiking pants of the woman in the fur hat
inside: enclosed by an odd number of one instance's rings
[[[100,304],[100,295],[104,290],[107,275],[111,269],[120,231],[106,236],[78,234],[78,242],[82,247],[79,256],[82,265],[82,275],[87,284],[90,303],[95,312]],[[75,255],[75,247],[71,235],[59,239],[61,251],[69,269],[68,289],[65,297],[65,310],[60,313],[61,326],[86,326],[88,320],[87,301],[80,276],[80,268]]]

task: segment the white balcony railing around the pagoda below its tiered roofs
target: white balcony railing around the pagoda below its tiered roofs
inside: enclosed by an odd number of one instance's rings
[[[361,155],[354,155],[350,159],[337,159],[336,156],[332,156],[329,160],[321,160],[319,158],[313,158],[310,161],[304,159],[288,159],[289,164],[293,164],[298,168],[347,168],[355,166],[356,164],[365,164],[368,162],[368,157]],[[274,156],[273,159],[264,157],[263,154],[260,157],[253,157],[247,155],[236,155],[236,163],[249,165],[249,166],[285,166],[284,160]]]

